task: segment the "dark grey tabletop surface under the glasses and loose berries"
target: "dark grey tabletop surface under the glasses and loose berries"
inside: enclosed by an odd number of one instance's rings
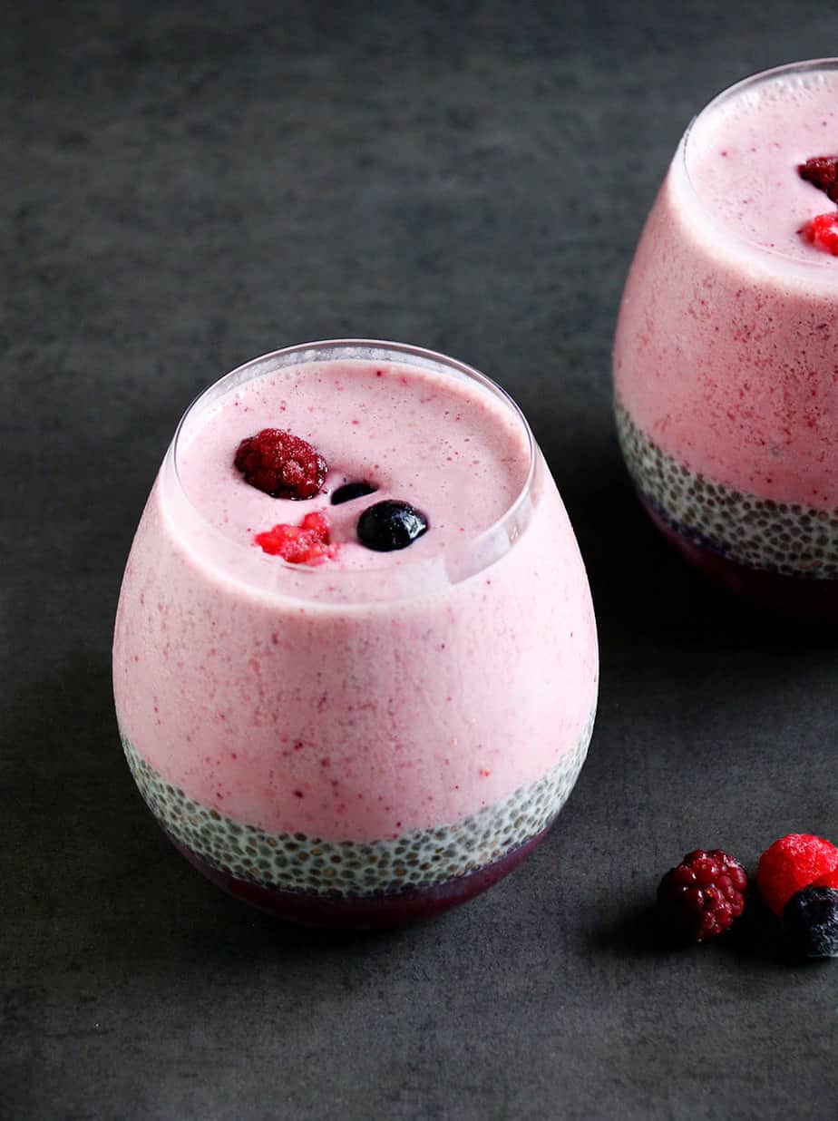
[[[830,636],[716,594],[633,502],[617,299],[689,117],[835,48],[823,2],[29,2],[0,26],[0,1115],[835,1118],[838,963],[668,953],[697,845],[838,834]],[[439,920],[298,933],[167,846],[119,750],[133,528],[202,386],[371,335],[530,416],[602,701],[541,850]]]

